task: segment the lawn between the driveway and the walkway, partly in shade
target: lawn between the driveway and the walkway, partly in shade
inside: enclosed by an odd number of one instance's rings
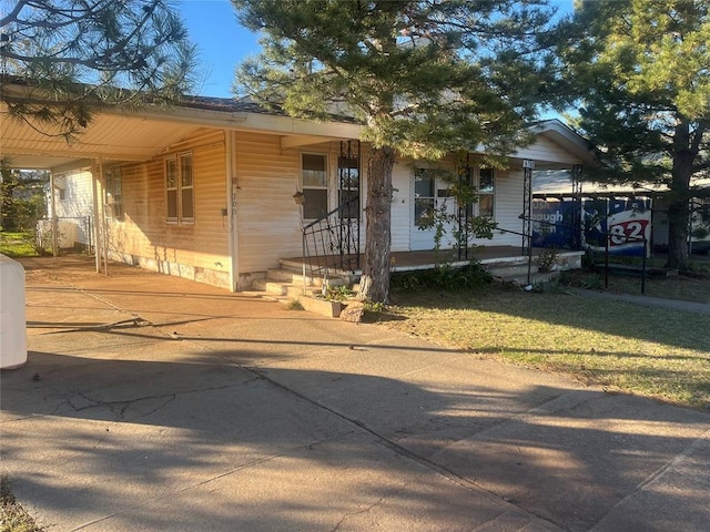
[[[396,295],[388,327],[589,385],[710,409],[708,316],[495,286]]]

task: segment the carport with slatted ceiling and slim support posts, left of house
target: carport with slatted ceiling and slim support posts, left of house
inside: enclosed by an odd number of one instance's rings
[[[124,108],[104,108],[93,116],[89,126],[79,135],[67,140],[59,126],[31,124],[28,121],[8,117],[4,100],[36,100],[34,90],[20,83],[3,83],[3,102],[0,102],[0,158],[10,168],[43,170],[50,174],[50,213],[52,216],[54,255],[57,255],[55,194],[54,177],[70,171],[84,170],[91,173],[93,190],[92,239],[98,244],[95,269],[100,272],[103,258],[106,260],[105,239],[102,224],[105,205],[98,190],[105,184],[104,167],[118,163],[144,162],[159,155],[171,144],[204,127],[205,121],[215,125],[239,124],[245,117],[239,113],[220,113],[213,116],[200,108],[142,109],[140,115]]]

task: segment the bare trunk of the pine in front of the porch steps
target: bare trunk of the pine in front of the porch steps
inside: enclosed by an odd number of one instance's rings
[[[358,299],[389,303],[389,252],[392,221],[392,168],[395,151],[373,149],[367,165],[365,257]]]

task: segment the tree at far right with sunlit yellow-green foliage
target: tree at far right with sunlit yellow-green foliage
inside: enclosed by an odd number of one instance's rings
[[[688,263],[691,178],[710,168],[710,4],[585,0],[562,30],[579,125],[607,176],[669,186],[668,265]]]

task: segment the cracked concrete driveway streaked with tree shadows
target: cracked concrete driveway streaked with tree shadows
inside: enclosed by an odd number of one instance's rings
[[[26,263],[2,472],[50,531],[708,531],[710,415],[121,265]]]

